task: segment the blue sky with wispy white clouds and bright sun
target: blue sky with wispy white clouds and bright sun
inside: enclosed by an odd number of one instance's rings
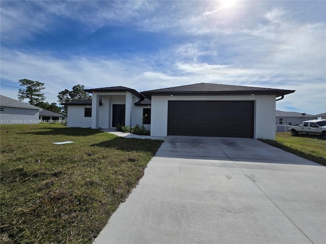
[[[295,89],[277,109],[326,112],[326,2],[230,2],[1,1],[1,94],[207,82]]]

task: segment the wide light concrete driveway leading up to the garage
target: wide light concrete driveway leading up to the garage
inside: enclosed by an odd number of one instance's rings
[[[325,188],[258,140],[168,136],[94,243],[325,243]]]

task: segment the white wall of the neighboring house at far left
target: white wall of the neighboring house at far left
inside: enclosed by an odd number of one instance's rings
[[[36,124],[39,121],[40,111],[37,109],[3,107],[0,112],[1,124]],[[15,120],[17,123],[11,123],[8,120]]]

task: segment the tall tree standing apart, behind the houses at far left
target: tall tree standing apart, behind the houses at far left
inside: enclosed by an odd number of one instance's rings
[[[18,91],[19,101],[29,99],[29,104],[35,105],[45,100],[44,94],[41,93],[41,90],[45,89],[44,83],[28,79],[19,80],[18,83],[21,86],[25,86],[24,89],[19,89]]]

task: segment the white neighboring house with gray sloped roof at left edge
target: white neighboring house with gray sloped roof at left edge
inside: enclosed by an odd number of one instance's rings
[[[0,95],[1,124],[37,124],[42,108]]]

